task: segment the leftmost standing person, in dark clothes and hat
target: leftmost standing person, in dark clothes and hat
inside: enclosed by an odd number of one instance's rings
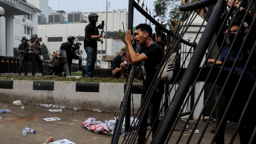
[[[20,53],[20,65],[18,69],[18,74],[21,75],[21,69],[25,63],[24,76],[28,75],[28,39],[26,36],[22,37],[21,44],[19,44],[18,51]]]

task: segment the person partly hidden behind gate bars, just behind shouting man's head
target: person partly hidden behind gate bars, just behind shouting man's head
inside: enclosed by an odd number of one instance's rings
[[[156,33],[152,34],[152,39],[164,50],[164,46],[166,46],[166,35],[157,26],[155,26],[155,31]]]

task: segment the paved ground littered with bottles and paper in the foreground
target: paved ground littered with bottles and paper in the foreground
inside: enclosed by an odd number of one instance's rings
[[[96,118],[102,122],[105,120],[113,120],[114,113],[109,112],[94,112],[92,110],[78,110],[75,112],[72,109],[62,109],[62,112],[50,112],[52,108],[42,108],[35,105],[26,105],[26,109],[22,110],[21,106],[15,106],[12,102],[0,101],[0,109],[10,109],[11,112],[0,113],[0,144],[43,144],[45,140],[52,136],[54,141],[67,139],[75,144],[110,144],[112,136],[106,134],[96,134],[90,132],[87,128],[84,128],[80,124],[88,118]],[[118,116],[118,114],[116,114]],[[61,120],[46,121],[43,118],[57,117]],[[192,123],[188,124],[189,126]],[[205,122],[200,122],[199,130],[202,130]],[[178,128],[184,126],[182,120],[178,124]],[[213,127],[214,124],[210,125]],[[33,128],[36,133],[28,133],[26,136],[22,136],[22,128]],[[188,128],[189,129],[189,128]],[[209,128],[210,130],[210,128]],[[209,144],[214,134],[207,130],[202,144]],[[234,124],[229,123],[227,126],[227,140],[231,136],[231,132],[234,130]],[[174,131],[174,138],[179,136],[180,131]],[[189,136],[189,132],[185,132],[183,135]],[[195,134],[194,134],[195,135]],[[195,135],[195,140],[198,140],[200,134]],[[123,137],[120,135],[119,143],[121,144]],[[151,138],[150,138],[151,140]],[[149,140],[149,141],[150,141]],[[148,144],[150,142],[147,142]],[[174,143],[174,142],[169,142]],[[180,144],[184,144],[184,141],[180,141]],[[196,142],[194,142],[196,143]],[[228,142],[227,142],[228,143]],[[193,144],[193,141],[191,141]],[[239,137],[236,138],[234,144],[239,144]]]

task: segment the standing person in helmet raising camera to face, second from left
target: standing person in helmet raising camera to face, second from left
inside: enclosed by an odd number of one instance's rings
[[[32,64],[32,76],[35,76],[36,74],[37,65],[39,67],[40,72],[42,73],[42,76],[47,74],[47,72],[43,70],[42,61],[39,56],[39,54],[41,54],[42,52],[42,47],[39,40],[40,39],[38,38],[37,34],[32,34],[31,39],[28,40],[28,44],[29,44],[28,54],[29,54],[30,62]]]

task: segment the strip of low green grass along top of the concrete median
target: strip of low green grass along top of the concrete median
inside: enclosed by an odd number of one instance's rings
[[[82,76],[82,72],[71,72],[71,76]],[[0,80],[44,80],[44,81],[70,81],[70,82],[120,82],[126,83],[126,78],[86,78],[86,77],[50,77],[50,76],[19,76],[18,74],[0,74]],[[134,79],[133,83],[142,83]]]

